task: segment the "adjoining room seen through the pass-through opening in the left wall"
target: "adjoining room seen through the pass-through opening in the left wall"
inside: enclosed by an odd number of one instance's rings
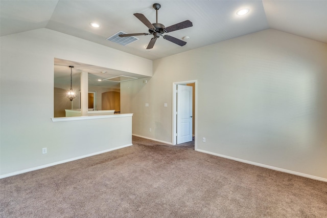
[[[77,96],[71,101],[66,97],[66,92],[72,88]],[[88,111],[114,110],[120,113],[120,83],[137,79],[138,75],[92,66],[75,61],[54,59],[54,117],[81,116],[81,73],[87,72],[88,77]],[[67,115],[67,111],[72,114]],[[94,112],[94,113],[96,113]],[[93,112],[92,112],[93,114]],[[95,115],[95,114],[94,114]]]

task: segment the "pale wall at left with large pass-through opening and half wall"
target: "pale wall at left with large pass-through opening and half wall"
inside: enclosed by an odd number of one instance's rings
[[[52,122],[54,58],[152,76],[151,60],[56,31],[2,36],[0,177],[131,143],[131,117]]]

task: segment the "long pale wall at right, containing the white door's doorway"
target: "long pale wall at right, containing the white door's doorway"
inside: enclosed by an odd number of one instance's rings
[[[326,60],[322,42],[245,35],[155,60],[148,83],[121,85],[122,111],[133,134],[172,142],[172,83],[198,80],[199,150],[327,180]]]

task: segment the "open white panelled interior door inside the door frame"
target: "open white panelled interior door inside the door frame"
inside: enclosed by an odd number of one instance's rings
[[[192,86],[177,85],[177,144],[192,141]]]

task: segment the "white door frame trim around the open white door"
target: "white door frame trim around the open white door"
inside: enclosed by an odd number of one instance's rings
[[[198,80],[189,80],[189,81],[181,81],[181,82],[173,82],[173,139],[172,144],[176,145],[176,130],[177,130],[177,117],[176,117],[176,110],[177,110],[177,85],[186,85],[189,83],[195,83],[195,91],[194,91],[194,149],[197,150],[198,148]]]

